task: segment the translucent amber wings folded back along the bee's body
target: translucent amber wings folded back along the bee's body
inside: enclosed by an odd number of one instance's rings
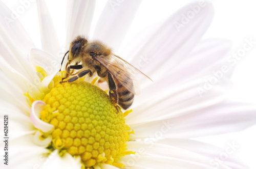
[[[134,75],[139,73],[151,79],[117,55],[112,55],[112,60],[110,61],[100,57],[95,57],[95,59],[103,65],[124,88],[135,95],[140,94],[140,84]]]

